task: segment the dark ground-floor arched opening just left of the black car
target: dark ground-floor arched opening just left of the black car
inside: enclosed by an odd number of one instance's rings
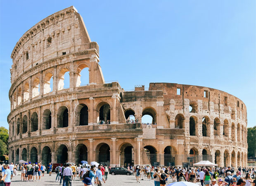
[[[110,147],[108,144],[101,143],[97,145],[96,151],[99,153],[96,155],[98,157],[98,163],[102,165],[110,165]]]

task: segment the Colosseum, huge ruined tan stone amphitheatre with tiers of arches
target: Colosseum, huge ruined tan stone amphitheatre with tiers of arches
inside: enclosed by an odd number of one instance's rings
[[[150,83],[148,90],[140,85],[125,91],[119,82],[105,82],[99,46],[73,6],[24,33],[11,58],[11,162],[247,163],[242,100],[195,85]],[[85,85],[82,70],[89,76]],[[64,88],[66,73],[69,88]],[[143,124],[144,115],[152,123]]]

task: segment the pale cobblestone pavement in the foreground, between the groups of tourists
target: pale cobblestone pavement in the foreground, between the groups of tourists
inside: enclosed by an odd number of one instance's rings
[[[11,186],[59,186],[59,182],[55,182],[56,174],[53,173],[51,177],[45,174],[41,177],[41,181],[20,181],[20,175],[15,176],[12,179]],[[75,179],[73,180],[73,186],[83,186],[83,182]],[[108,179],[104,186],[154,186],[154,181],[147,179],[140,180],[140,183],[136,182],[136,178],[133,175],[108,175]]]

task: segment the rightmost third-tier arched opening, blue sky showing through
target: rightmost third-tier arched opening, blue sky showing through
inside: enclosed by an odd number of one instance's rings
[[[89,85],[89,68],[85,64],[81,64],[77,68],[76,87]]]

